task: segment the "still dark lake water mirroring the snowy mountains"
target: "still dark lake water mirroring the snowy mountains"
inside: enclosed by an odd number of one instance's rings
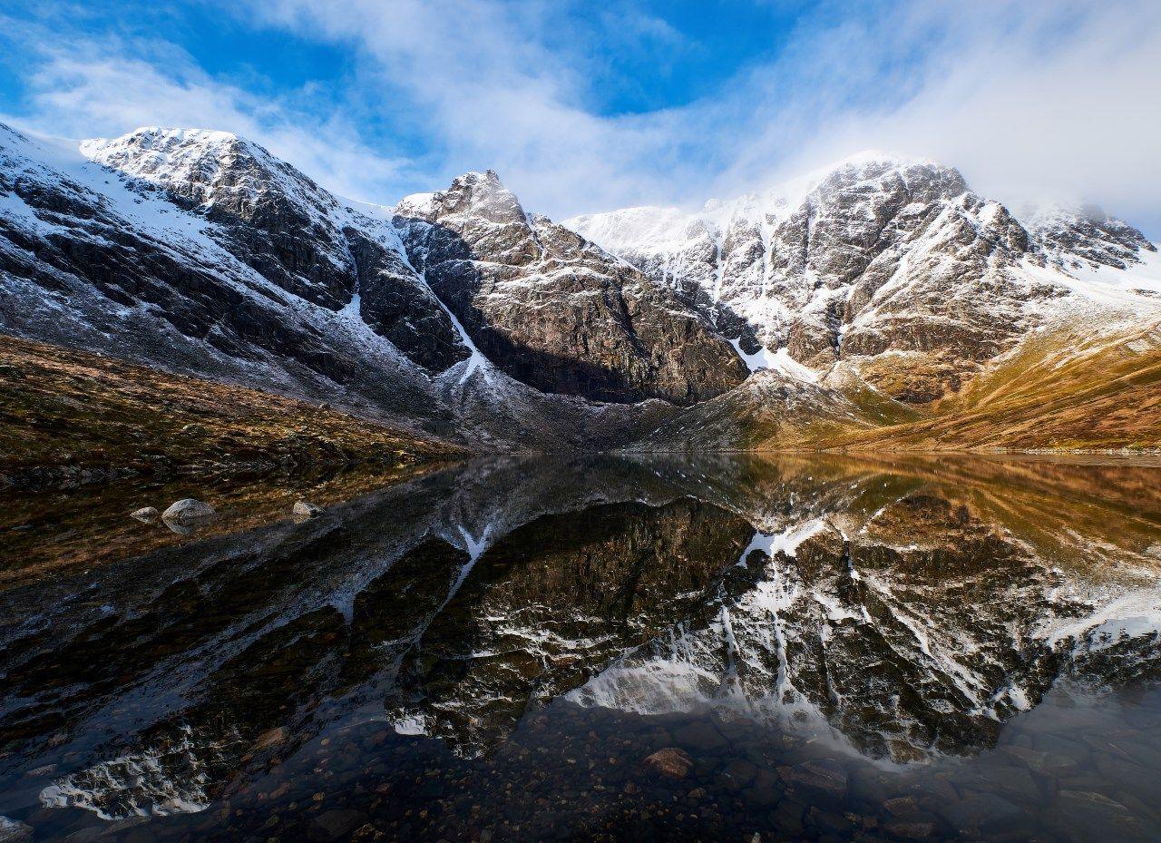
[[[1155,464],[193,491],[2,507],[0,841],[1161,841]]]

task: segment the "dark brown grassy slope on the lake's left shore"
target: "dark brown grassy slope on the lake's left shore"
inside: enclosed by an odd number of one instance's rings
[[[0,487],[457,454],[315,404],[0,336]]]

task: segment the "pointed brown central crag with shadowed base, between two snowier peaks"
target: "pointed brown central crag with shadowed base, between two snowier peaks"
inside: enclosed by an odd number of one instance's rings
[[[491,171],[396,212],[412,264],[517,380],[597,401],[687,404],[745,377],[730,345],[666,286],[529,216]]]

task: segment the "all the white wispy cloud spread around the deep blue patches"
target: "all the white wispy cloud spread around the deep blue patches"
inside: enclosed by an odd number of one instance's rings
[[[340,193],[384,202],[492,167],[531,210],[556,217],[695,203],[881,147],[958,166],[1007,201],[1083,197],[1161,235],[1154,0],[831,0],[715,95],[633,115],[603,111],[610,53],[669,62],[697,45],[632,5],[264,0],[245,14],[349,50],[351,95],[421,138],[424,158],[370,147],[341,98],[322,111],[265,100],[164,44],[62,43],[33,77],[30,117],[72,135],[229,129]]]

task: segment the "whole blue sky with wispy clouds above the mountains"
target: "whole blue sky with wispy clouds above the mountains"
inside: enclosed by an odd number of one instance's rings
[[[199,125],[390,203],[496,168],[555,217],[861,149],[1161,236],[1154,0],[0,0],[0,118]]]

